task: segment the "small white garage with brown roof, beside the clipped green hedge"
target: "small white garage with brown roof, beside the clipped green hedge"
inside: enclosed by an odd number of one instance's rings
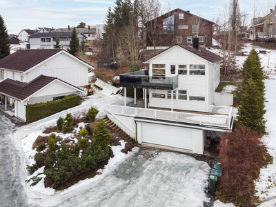
[[[0,83],[0,95],[14,102],[14,116],[26,121],[26,105],[61,99],[83,90],[55,77],[40,75],[29,83],[6,79]],[[7,99],[6,103],[7,104]]]

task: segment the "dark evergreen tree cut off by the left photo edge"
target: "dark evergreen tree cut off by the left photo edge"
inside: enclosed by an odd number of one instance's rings
[[[10,55],[10,41],[6,24],[0,14],[0,59],[7,55]]]

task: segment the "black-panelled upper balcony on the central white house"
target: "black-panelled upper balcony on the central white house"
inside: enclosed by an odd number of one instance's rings
[[[125,88],[175,90],[175,88],[178,88],[178,75],[174,77],[152,77],[148,76],[148,70],[128,72],[120,75],[120,86]]]

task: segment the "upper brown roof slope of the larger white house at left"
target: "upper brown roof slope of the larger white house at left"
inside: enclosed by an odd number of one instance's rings
[[[36,66],[38,63],[52,57],[61,51],[60,49],[43,50],[18,50],[0,59],[0,68],[25,72]]]

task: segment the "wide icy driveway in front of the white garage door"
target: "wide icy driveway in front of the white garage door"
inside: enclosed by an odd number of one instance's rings
[[[206,162],[146,148],[135,148],[127,157],[100,179],[68,193],[45,197],[39,206],[196,207],[210,201],[204,193],[210,170]]]

